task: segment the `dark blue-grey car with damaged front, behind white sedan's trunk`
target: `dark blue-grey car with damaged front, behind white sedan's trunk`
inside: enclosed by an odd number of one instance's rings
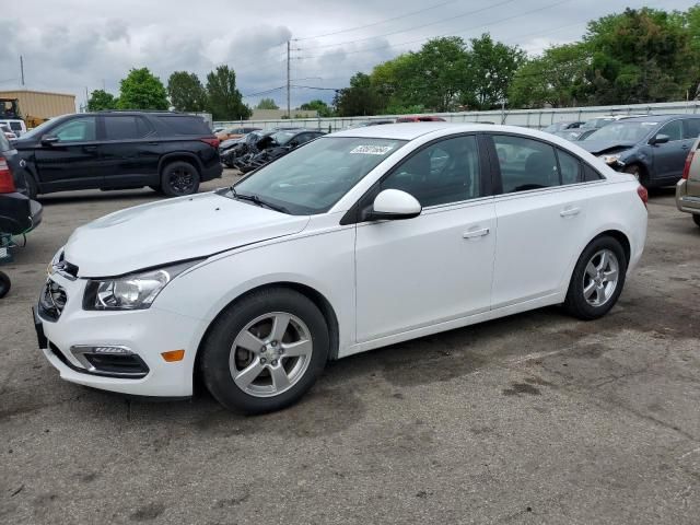
[[[649,188],[676,184],[698,136],[700,115],[657,115],[608,124],[576,143]]]

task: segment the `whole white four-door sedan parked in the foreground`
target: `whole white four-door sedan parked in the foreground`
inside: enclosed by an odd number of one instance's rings
[[[118,211],[54,258],[35,322],[65,380],[290,405],[328,360],[551,304],[607,313],[646,191],[524,128],[369,126],[232,188]],[[417,364],[419,365],[419,364]]]

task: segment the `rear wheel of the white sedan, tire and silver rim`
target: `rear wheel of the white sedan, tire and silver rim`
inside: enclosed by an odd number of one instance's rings
[[[602,258],[603,254],[606,255],[606,261]],[[611,271],[615,269],[617,273],[614,281]],[[608,235],[594,238],[579,257],[573,270],[564,310],[584,320],[603,317],[620,296],[626,273],[627,257],[619,241]]]

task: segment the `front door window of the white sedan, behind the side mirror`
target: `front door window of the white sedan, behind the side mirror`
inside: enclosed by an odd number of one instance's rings
[[[401,189],[429,207],[480,197],[480,183],[477,139],[466,136],[419,151],[384,179],[381,189]]]

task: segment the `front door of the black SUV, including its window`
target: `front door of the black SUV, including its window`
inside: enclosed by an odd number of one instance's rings
[[[58,140],[39,143],[35,165],[46,191],[98,188],[100,170],[98,121],[95,115],[77,115],[49,129],[44,137]]]

